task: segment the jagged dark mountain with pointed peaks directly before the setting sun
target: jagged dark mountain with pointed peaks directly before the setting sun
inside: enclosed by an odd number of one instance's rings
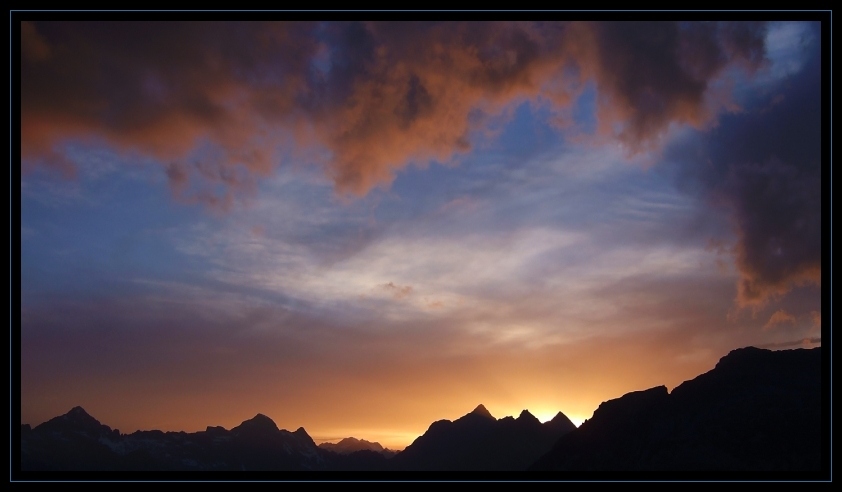
[[[525,470],[576,426],[559,413],[542,424],[528,411],[495,419],[483,406],[451,422],[439,420],[392,458],[395,470]]]

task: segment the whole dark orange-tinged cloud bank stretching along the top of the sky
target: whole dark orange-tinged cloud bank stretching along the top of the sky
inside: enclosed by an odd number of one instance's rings
[[[595,81],[629,149],[723,106],[763,60],[762,24],[39,22],[21,26],[23,165],[106,142],[163,163],[190,201],[230,206],[302,149],[362,195],[448,161],[524,100],[564,112]],[[726,98],[727,99],[727,98]],[[30,163],[30,164],[27,164]],[[66,167],[66,165],[65,165]]]

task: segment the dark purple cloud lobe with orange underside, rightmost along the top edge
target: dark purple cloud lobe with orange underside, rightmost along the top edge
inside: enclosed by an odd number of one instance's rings
[[[596,56],[588,58],[595,60],[601,123],[619,123],[612,131],[633,150],[671,123],[710,121],[726,102],[714,100],[711,81],[735,63],[754,70],[765,57],[762,23],[612,22],[593,30]]]

